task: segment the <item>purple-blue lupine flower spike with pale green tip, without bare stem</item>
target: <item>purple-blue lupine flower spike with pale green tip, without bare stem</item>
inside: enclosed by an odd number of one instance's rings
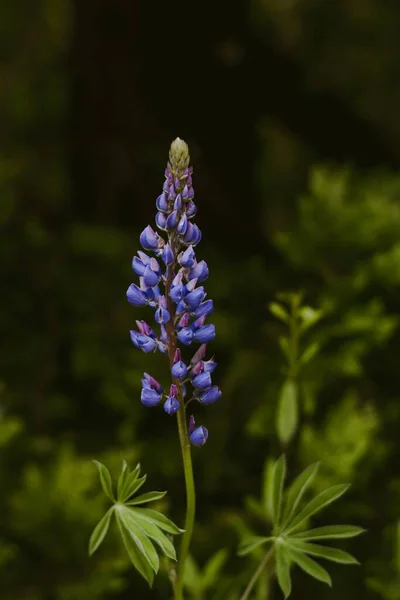
[[[193,223],[197,207],[192,172],[188,146],[177,138],[171,144],[165,181],[156,200],[155,224],[160,233],[147,225],[140,234],[145,252],[139,250],[132,261],[139,282],[132,283],[126,292],[133,306],[154,309],[155,328],[159,328],[157,333],[145,321],[136,321],[137,330],[130,332],[133,345],[143,352],[167,353],[171,368],[168,394],[153,377],[144,374],[142,404],[158,406],[164,397],[164,410],[169,415],[177,413],[182,403],[197,400],[212,404],[221,396],[221,390],[212,383],[217,364],[213,359],[205,360],[206,344],[215,337],[214,325],[206,323],[214,307],[202,285],[208,266],[195,254],[201,232]],[[196,342],[200,348],[185,360],[182,350]],[[208,437],[204,426],[195,427],[194,417],[190,418],[188,434],[195,446],[205,444]]]

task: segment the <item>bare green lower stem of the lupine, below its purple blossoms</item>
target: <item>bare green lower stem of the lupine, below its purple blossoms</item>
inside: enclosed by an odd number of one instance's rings
[[[196,512],[196,493],[194,487],[192,455],[190,449],[190,441],[186,424],[186,410],[183,402],[178,411],[178,431],[179,441],[182,450],[183,471],[185,474],[186,486],[186,518],[185,532],[181,538],[181,548],[179,553],[178,573],[175,584],[175,600],[183,600],[183,574],[185,563],[189,553],[190,541],[192,539],[194,519]]]

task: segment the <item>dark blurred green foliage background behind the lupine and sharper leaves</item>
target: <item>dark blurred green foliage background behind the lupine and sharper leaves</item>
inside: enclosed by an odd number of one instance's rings
[[[399,30],[394,0],[1,3],[2,599],[168,597],[117,539],[91,560],[87,540],[105,507],[93,457],[115,475],[140,459],[183,518],[174,419],[139,401],[143,371],[166,381],[166,365],[130,344],[141,312],[125,299],[176,136],[223,390],[196,413],[210,437],[193,554],[230,554],[207,599],[238,597],[256,565],[235,552],[244,527],[265,529],[251,497],[281,452],[284,328],[267,306],[298,289],[324,318],[290,476],[321,460],[316,490],[351,482],[324,518],[368,534],[342,544],[361,567],[332,567],[332,590],[295,570],[293,598],[400,598]]]

